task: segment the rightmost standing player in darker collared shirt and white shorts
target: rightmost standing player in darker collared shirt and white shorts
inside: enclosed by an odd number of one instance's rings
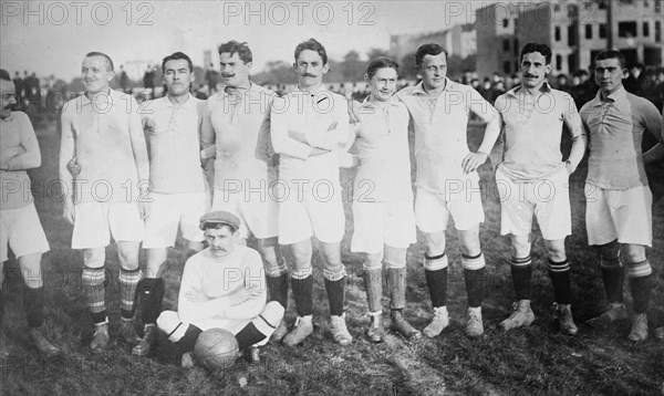
[[[600,253],[610,306],[589,324],[606,325],[627,319],[622,292],[625,265],[634,303],[627,338],[639,343],[649,335],[646,312],[654,281],[645,254],[645,247],[653,242],[653,196],[644,165],[662,158],[662,117],[651,102],[625,91],[625,58],[620,51],[599,52],[594,65],[600,91],[580,111],[590,139],[585,227],[588,243],[598,247]],[[645,132],[658,143],[642,154]]]

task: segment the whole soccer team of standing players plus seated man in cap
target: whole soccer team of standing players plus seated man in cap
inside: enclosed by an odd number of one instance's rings
[[[535,319],[535,216],[553,285],[553,317],[562,333],[574,335],[564,240],[571,235],[569,176],[587,148],[588,241],[598,247],[610,303],[590,324],[627,319],[622,293],[626,267],[634,304],[629,338],[647,337],[654,280],[645,247],[652,246],[653,199],[644,166],[664,157],[664,129],[657,108],[622,86],[625,60],[620,52],[595,56],[600,90],[580,112],[570,95],[547,83],[551,50],[543,44],[522,48],[521,85],[498,97],[495,106],[446,76],[447,53],[434,43],[416,52],[422,82],[398,92],[398,65],[387,58],[371,60],[365,75],[371,94],[362,103],[323,86],[328,55],[314,39],[295,48],[299,84],[281,97],[249,80],[252,54],[246,43],[221,44],[219,60],[225,88],[199,101],[189,93],[198,77],[191,60],[181,52],[166,56],[162,67],[167,95],[139,106],[132,96],[110,88],[111,58],[91,52],[83,59],[85,94],[70,101],[62,113],[60,177],[65,187],[63,215],[73,225],[72,248],[83,250],[82,286],[94,323],[92,352],[104,351],[110,342],[104,263],[111,238],[120,261],[120,337],[134,345],[135,355],[155,348],[157,330],[167,335],[169,347],[184,352],[184,366],[191,365],[188,351],[198,334],[211,327],[231,331],[246,350],[269,338],[301,344],[313,332],[311,237],[321,252],[332,338],[350,344],[339,169],[352,166],[357,174],[351,251],[364,260],[367,337],[385,337],[383,265],[393,331],[405,338],[435,337],[449,324],[445,232],[450,217],[467,292],[464,331],[480,336],[486,264],[477,168],[489,157],[500,194],[500,233],[511,239],[516,295],[512,313],[500,326],[516,329]],[[11,111],[15,94],[7,72],[0,82],[0,259],[4,262],[11,248],[24,273],[32,343],[43,354],[58,354],[41,329],[40,263],[49,244],[34,205],[23,198],[30,188],[25,169],[41,163],[39,146],[27,115]],[[467,144],[470,113],[486,123],[475,153]],[[572,138],[567,158],[560,150],[563,124]],[[409,128],[415,133],[415,194]],[[645,132],[660,143],[643,154]],[[351,147],[354,154],[349,154]],[[424,272],[433,305],[433,319],[422,332],[404,314],[406,251],[416,241],[416,227],[425,237]],[[177,311],[163,311],[163,264],[178,229],[187,240],[187,260]],[[249,235],[257,239],[259,252],[246,247]],[[142,243],[147,252],[143,270]],[[292,326],[283,320],[289,283],[297,312]],[[139,332],[134,325],[136,305],[144,325]]]

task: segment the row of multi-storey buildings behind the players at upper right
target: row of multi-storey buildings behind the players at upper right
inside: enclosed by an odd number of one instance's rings
[[[664,0],[562,0],[496,2],[475,11],[475,22],[424,34],[392,35],[391,53],[402,59],[425,42],[446,46],[450,55],[477,55],[477,73],[511,74],[519,50],[539,42],[552,50],[552,73],[588,70],[594,55],[618,49],[627,64],[662,66]]]

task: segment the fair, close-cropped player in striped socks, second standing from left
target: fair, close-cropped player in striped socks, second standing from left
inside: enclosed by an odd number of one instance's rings
[[[104,261],[111,237],[120,259],[121,336],[132,344],[141,341],[133,316],[143,220],[149,216],[149,164],[138,104],[111,90],[114,75],[108,55],[86,54],[81,67],[85,94],[69,101],[62,113],[63,216],[74,226],[72,248],[83,250],[83,291],[95,327],[93,353],[104,351],[110,341]]]

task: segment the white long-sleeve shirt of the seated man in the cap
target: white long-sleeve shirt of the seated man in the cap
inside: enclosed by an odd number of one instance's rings
[[[194,302],[187,293],[200,290],[207,298]],[[193,256],[185,264],[177,312],[183,322],[200,330],[220,327],[237,333],[266,306],[266,280],[260,254],[236,246],[222,258],[208,249]]]

